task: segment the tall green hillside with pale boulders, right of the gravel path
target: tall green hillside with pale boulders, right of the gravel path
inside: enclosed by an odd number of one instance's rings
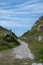
[[[29,44],[29,48],[35,56],[34,61],[43,63],[43,16],[20,39]]]

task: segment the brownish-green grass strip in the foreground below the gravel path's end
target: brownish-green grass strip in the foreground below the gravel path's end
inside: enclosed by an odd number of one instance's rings
[[[13,60],[2,60],[2,62],[0,62],[1,65],[32,65],[32,63],[34,61],[31,61],[30,59],[13,59]]]

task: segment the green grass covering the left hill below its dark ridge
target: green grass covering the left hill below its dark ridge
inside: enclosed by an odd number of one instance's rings
[[[13,35],[10,35],[10,38],[14,38],[13,41],[10,42],[7,40],[7,37],[4,37],[3,33],[0,33],[0,51],[11,49],[20,45]]]

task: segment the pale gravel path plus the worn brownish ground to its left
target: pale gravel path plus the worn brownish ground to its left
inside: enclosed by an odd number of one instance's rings
[[[23,58],[31,58],[33,59],[33,54],[31,53],[30,49],[28,48],[28,44],[19,40],[20,46],[6,50],[3,52],[0,52],[0,58],[18,58],[18,59],[23,59]]]

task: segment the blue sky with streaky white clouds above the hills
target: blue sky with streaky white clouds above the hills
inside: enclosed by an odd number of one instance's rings
[[[43,0],[0,0],[0,25],[21,36],[43,15]]]

